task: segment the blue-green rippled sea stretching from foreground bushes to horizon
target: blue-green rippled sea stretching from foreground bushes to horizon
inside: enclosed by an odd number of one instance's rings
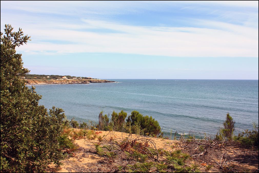
[[[62,108],[68,119],[98,121],[99,112],[137,110],[163,132],[215,135],[227,112],[235,133],[258,123],[258,80],[109,79],[117,83],[37,85],[39,104]]]

